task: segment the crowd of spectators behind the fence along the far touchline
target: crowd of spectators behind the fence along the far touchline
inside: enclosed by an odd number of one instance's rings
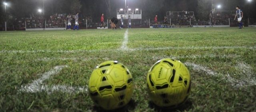
[[[134,11],[135,12],[135,11]],[[132,13],[132,11],[131,11]],[[136,13],[140,13],[136,11]],[[215,11],[214,13],[210,13],[209,20],[196,20],[194,16],[194,12],[182,11],[182,12],[169,12],[168,13],[168,24],[176,25],[176,26],[205,26],[205,25],[234,25],[236,26],[236,21],[234,21],[235,11]],[[8,28],[13,30],[24,30],[26,28],[66,28],[68,24],[68,18],[70,18],[71,26],[74,26],[76,14],[52,14],[48,18],[44,18],[44,16],[35,16],[33,14],[27,18],[13,18],[8,23]],[[230,21],[229,21],[230,18]],[[86,21],[87,20],[87,21]],[[132,26],[136,27],[144,27],[144,26],[152,26],[154,25],[154,20],[150,19],[150,24],[148,19],[140,19],[140,20],[132,20]],[[107,20],[105,20],[107,21]],[[10,23],[11,22],[11,23]],[[97,28],[101,25],[100,18],[98,20],[92,19],[91,16],[79,15],[79,27],[80,28]],[[106,25],[107,23],[105,23]],[[158,24],[164,24],[164,18],[158,17]],[[250,19],[250,25],[256,25],[256,21],[254,19]],[[4,28],[4,24],[0,24],[1,28]],[[87,26],[87,27],[86,27]],[[107,26],[107,25],[106,25]],[[3,30],[3,29],[1,29]]]

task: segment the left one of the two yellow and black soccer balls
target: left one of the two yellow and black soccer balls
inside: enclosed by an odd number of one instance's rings
[[[97,66],[90,76],[88,86],[90,98],[105,110],[128,104],[134,87],[132,74],[117,61],[106,61]]]

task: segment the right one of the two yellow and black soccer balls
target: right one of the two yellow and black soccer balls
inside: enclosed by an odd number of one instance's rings
[[[191,89],[188,68],[178,60],[159,60],[148,71],[148,93],[154,104],[176,108],[188,99]]]

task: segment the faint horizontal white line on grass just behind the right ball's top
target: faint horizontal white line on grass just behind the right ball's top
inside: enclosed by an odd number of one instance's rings
[[[161,60],[162,58],[240,58],[240,55],[230,54],[230,55],[216,55],[216,54],[203,54],[203,55],[182,55],[182,56],[153,56],[154,60]]]

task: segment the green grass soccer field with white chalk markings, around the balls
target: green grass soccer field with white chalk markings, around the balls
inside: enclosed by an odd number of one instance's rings
[[[102,111],[86,85],[106,60],[134,78],[120,111],[170,112],[146,91],[146,74],[162,58],[185,63],[192,78],[188,101],[174,111],[256,111],[256,28],[145,28],[0,32],[0,112]]]

